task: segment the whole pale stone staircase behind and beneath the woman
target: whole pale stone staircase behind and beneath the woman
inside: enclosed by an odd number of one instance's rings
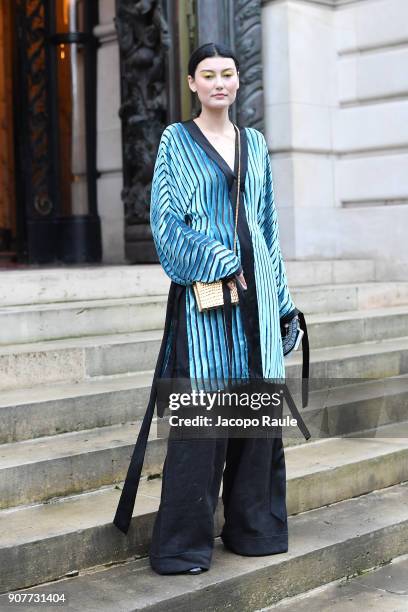
[[[112,525],[167,277],[157,265],[1,273],[0,593],[64,593],[64,609],[85,612],[251,611],[408,553],[408,280],[365,260],[286,268],[312,389],[311,440],[285,441],[289,551],[239,557],[217,538],[196,577],[157,576],[146,559],[166,449],[155,427],[131,529]],[[287,358],[289,379],[300,364]]]

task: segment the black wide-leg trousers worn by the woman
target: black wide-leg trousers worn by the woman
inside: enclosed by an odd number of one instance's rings
[[[210,568],[221,481],[225,547],[247,556],[288,550],[282,438],[176,439],[170,430],[150,548],[157,573]]]

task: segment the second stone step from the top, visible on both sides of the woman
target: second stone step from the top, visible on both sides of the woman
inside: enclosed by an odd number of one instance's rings
[[[344,319],[343,325],[337,325],[340,334],[345,327],[361,334],[363,313],[376,317],[372,309],[390,307],[395,308],[400,319],[405,316],[401,324],[407,328],[408,282],[294,286],[291,293],[296,306],[308,314],[308,319],[315,313],[331,313],[337,323],[338,313]],[[0,345],[160,330],[166,303],[167,295],[151,295],[3,306]],[[355,319],[354,327],[349,323],[350,318]]]

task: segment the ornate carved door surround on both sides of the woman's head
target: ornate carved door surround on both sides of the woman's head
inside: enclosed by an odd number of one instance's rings
[[[261,0],[116,0],[116,28],[126,256],[132,263],[157,261],[149,224],[154,162],[166,125],[191,116],[193,97],[186,104],[183,78],[196,46],[235,47],[241,85],[233,118],[263,129]]]

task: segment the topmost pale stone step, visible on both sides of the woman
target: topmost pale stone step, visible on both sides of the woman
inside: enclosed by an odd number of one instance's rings
[[[290,286],[397,280],[384,262],[371,259],[285,261]],[[378,273],[378,271],[379,273]],[[402,277],[402,280],[405,280]],[[164,295],[170,279],[158,264],[137,266],[41,266],[3,271],[0,304],[49,304]]]

